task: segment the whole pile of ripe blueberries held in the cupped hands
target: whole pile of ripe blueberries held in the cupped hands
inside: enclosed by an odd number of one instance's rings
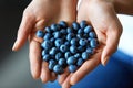
[[[37,36],[44,40],[41,43],[42,58],[55,74],[64,73],[66,67],[74,73],[98,47],[96,34],[85,21],[73,22],[71,26],[60,21],[44,31],[39,30]]]

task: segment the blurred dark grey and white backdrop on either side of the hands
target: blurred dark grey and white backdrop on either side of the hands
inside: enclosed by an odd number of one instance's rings
[[[28,43],[12,52],[22,12],[30,0],[0,0],[0,88],[41,88],[30,74]],[[119,50],[133,57],[133,16],[119,15],[124,31]],[[133,67],[133,61],[131,65]]]

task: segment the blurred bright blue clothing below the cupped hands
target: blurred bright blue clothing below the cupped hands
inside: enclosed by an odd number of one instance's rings
[[[43,88],[61,86],[54,81],[44,84]],[[105,67],[99,65],[71,88],[133,88],[133,57],[117,51]]]

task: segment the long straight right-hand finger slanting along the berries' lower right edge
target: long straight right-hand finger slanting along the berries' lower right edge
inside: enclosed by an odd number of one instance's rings
[[[75,73],[73,73],[70,84],[75,85],[85,75],[88,75],[92,69],[94,69],[100,64],[100,58],[99,58],[100,55],[101,55],[101,53],[99,52],[94,55],[94,57],[84,62],[84,64]]]

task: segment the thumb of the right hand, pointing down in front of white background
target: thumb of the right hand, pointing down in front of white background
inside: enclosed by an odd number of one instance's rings
[[[121,25],[119,28],[114,25],[113,28],[108,29],[106,43],[105,47],[103,48],[101,58],[102,65],[106,65],[110,56],[117,50],[121,34],[122,34]]]

